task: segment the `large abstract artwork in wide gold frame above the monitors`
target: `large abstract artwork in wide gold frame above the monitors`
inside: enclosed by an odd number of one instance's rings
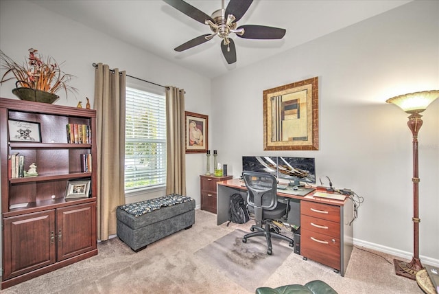
[[[318,150],[318,77],[263,91],[263,150]]]

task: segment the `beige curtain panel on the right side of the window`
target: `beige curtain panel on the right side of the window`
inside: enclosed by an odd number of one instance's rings
[[[166,194],[186,195],[185,90],[166,87]]]

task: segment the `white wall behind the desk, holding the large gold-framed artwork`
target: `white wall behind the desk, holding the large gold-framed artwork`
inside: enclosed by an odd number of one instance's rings
[[[317,178],[364,203],[357,245],[411,258],[412,133],[385,100],[439,89],[439,2],[414,1],[212,82],[213,144],[239,177],[243,155],[316,157]],[[300,28],[298,28],[300,30]],[[294,32],[287,32],[294,38]],[[237,44],[239,63],[239,45]],[[263,90],[319,77],[320,150],[263,150]],[[439,264],[439,99],[419,139],[420,256]]]

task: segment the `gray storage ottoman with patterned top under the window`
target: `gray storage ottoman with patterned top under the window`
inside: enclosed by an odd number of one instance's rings
[[[134,251],[189,229],[195,223],[195,200],[171,194],[117,207],[117,236]]]

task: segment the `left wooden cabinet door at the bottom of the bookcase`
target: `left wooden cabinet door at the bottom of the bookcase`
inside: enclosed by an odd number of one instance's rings
[[[55,210],[3,219],[3,280],[56,261]]]

